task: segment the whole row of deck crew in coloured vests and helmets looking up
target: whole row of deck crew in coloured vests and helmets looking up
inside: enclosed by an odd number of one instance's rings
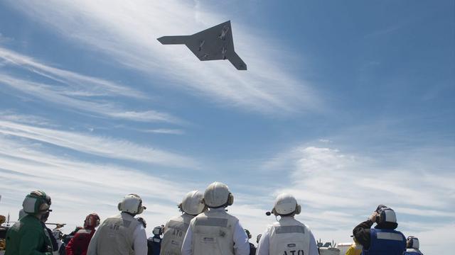
[[[301,212],[294,196],[288,193],[277,196],[271,214],[277,219],[279,216],[279,220],[257,237],[257,247],[249,243],[250,232],[227,212],[226,208],[233,203],[234,196],[224,183],[211,183],[204,193],[191,191],[178,205],[181,214],[168,220],[164,227],[154,228],[154,237],[147,240],[146,223],[136,217],[146,207],[140,196],[129,194],[118,204],[119,214],[102,223],[97,214],[87,215],[84,227],[74,233],[65,251],[68,255],[319,254],[311,230],[294,218]],[[23,212],[25,215],[6,234],[5,255],[51,255],[55,247],[51,234],[43,228],[50,212],[50,197],[43,191],[31,192],[23,200]],[[396,228],[394,210],[379,205],[368,220],[353,229],[359,245],[346,254],[422,254],[418,239],[406,239]],[[158,251],[150,251],[147,245],[155,242],[154,238],[159,243]],[[359,246],[361,249],[356,249]]]

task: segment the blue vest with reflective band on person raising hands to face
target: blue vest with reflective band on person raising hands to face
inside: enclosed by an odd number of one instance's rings
[[[402,255],[406,251],[406,237],[392,229],[370,229],[370,247],[362,255]]]

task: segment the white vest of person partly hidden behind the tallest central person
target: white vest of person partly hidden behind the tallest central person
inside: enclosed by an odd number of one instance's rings
[[[190,226],[193,215],[183,213],[183,215],[173,217],[164,227],[164,235],[161,240],[161,255],[181,255],[182,244],[186,230]]]

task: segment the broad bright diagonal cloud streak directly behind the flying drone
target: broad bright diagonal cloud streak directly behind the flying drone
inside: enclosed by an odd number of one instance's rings
[[[186,47],[163,46],[156,41],[162,35],[193,34],[214,26],[227,19],[223,14],[179,1],[24,4],[11,1],[11,6],[70,40],[101,50],[124,66],[166,77],[170,81],[166,85],[183,87],[223,106],[279,114],[319,111],[322,107],[311,86],[276,61],[277,57],[287,59],[282,56],[286,53],[271,50],[282,46],[267,45],[269,40],[251,33],[255,28],[233,23],[236,50],[247,62],[247,72],[238,72],[228,62],[198,62]]]

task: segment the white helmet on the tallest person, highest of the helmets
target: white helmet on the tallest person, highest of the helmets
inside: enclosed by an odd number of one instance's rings
[[[220,208],[232,205],[234,203],[234,196],[232,196],[225,183],[215,181],[205,189],[204,203],[209,208]]]

